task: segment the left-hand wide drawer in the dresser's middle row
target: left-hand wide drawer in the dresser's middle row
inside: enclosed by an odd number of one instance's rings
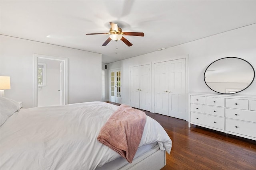
[[[224,117],[224,107],[190,104],[190,111]]]

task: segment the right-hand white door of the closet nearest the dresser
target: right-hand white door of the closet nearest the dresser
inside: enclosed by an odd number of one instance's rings
[[[185,59],[168,63],[168,115],[186,119],[186,62]]]

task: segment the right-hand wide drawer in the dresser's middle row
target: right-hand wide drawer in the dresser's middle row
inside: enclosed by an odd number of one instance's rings
[[[256,111],[226,109],[226,118],[251,121],[256,123]]]

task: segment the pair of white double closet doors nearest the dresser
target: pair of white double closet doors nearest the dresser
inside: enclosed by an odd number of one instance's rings
[[[154,64],[154,112],[186,119],[186,61],[178,59]]]

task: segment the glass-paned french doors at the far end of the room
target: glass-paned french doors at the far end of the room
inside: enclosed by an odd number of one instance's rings
[[[110,102],[122,104],[121,70],[110,70]]]

